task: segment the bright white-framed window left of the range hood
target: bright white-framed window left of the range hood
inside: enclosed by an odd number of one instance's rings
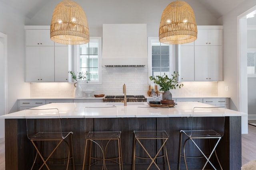
[[[75,48],[77,56],[78,72],[88,71],[87,78],[90,84],[101,84],[101,37],[90,37],[87,44],[77,45]]]

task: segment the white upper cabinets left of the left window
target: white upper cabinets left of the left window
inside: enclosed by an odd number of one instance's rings
[[[50,39],[50,26],[25,26],[26,82],[68,82],[68,45]]]

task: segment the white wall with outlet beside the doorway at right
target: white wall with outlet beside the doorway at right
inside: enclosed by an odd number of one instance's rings
[[[224,45],[224,81],[218,83],[218,94],[230,96],[230,109],[238,110],[238,25],[237,17],[256,5],[255,0],[246,0],[237,8],[224,15],[219,20],[223,21]],[[247,75],[241,75],[246,76]],[[225,91],[224,86],[229,86]]]

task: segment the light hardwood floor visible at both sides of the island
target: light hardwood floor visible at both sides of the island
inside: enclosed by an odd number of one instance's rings
[[[249,121],[256,123],[256,121]],[[256,159],[256,127],[248,125],[248,134],[242,134],[242,165]],[[0,138],[0,170],[5,170],[5,142]]]

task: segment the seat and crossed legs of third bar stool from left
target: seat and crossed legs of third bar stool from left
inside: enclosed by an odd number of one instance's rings
[[[134,131],[134,149],[133,149],[133,162],[132,162],[132,169],[135,170],[135,158],[139,159],[149,159],[151,160],[150,165],[148,166],[147,170],[154,164],[158,170],[160,170],[159,166],[156,164],[157,158],[164,158],[164,167],[166,169],[166,160],[168,163],[168,169],[170,170],[170,164],[168,160],[167,155],[167,149],[166,149],[166,141],[168,140],[169,135],[166,133],[166,131]],[[159,149],[156,149],[156,154],[151,156],[148,150],[145,148],[145,146],[142,144],[142,141],[144,140],[158,140],[162,141],[162,144]],[[136,156],[136,143],[139,143],[140,147],[146,152],[148,157],[142,157],[142,156]],[[149,141],[146,142],[147,144]],[[159,155],[161,150],[164,152],[163,155]]]

